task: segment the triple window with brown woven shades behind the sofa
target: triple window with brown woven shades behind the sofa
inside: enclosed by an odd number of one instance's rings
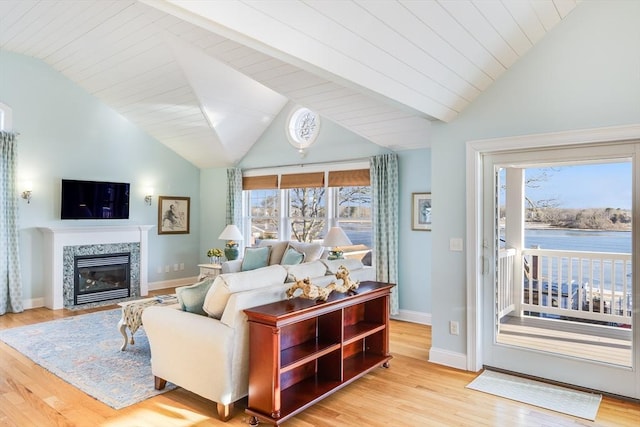
[[[321,242],[337,225],[359,255],[372,246],[368,169],[245,177],[243,188],[248,245],[263,239]]]

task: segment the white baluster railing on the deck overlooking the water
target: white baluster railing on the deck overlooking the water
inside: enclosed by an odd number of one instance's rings
[[[631,254],[549,249],[521,253],[523,271],[519,273],[514,271],[516,251],[500,251],[500,317],[515,310],[543,317],[631,324]]]

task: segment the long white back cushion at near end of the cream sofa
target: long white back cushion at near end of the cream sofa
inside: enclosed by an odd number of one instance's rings
[[[287,270],[281,265],[220,274],[207,292],[203,309],[210,317],[220,319],[231,294],[284,283],[286,277]]]

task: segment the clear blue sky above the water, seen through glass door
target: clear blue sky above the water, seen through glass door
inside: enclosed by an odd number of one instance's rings
[[[556,199],[559,208],[631,209],[631,166],[624,162],[546,168],[548,179],[525,191],[533,200]],[[541,173],[542,169],[529,168],[525,176]]]

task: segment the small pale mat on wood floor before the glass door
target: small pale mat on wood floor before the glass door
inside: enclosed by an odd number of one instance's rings
[[[484,371],[467,388],[594,421],[602,395],[572,390],[495,371]]]

